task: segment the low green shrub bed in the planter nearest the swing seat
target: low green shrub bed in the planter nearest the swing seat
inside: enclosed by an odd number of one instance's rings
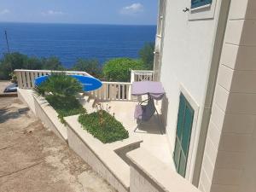
[[[102,143],[113,143],[129,137],[125,127],[105,110],[81,114],[79,123]]]

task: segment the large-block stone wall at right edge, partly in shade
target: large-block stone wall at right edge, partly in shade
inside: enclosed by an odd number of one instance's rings
[[[231,0],[200,189],[256,191],[256,1]]]

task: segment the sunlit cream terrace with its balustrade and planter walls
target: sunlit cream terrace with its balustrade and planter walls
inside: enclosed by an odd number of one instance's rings
[[[194,191],[192,185],[190,186],[189,183],[184,182],[185,180],[182,177],[177,175],[172,163],[172,154],[169,150],[170,146],[166,135],[161,134],[161,131],[165,132],[163,118],[165,115],[161,113],[163,111],[161,102],[155,102],[155,105],[160,112],[162,124],[159,124],[156,117],[152,117],[134,132],[137,121],[134,119],[133,113],[137,102],[144,98],[143,96],[131,96],[131,84],[135,81],[152,81],[154,77],[152,71],[131,71],[131,82],[102,82],[100,89],[79,95],[79,102],[87,109],[88,113],[96,111],[96,103],[101,103],[103,108],[111,107],[109,113],[114,113],[114,117],[129,132],[129,138],[108,144],[101,143],[87,131],[81,129],[78,122],[79,115],[66,117],[67,125],[62,125],[55,110],[50,108],[44,98],[33,94],[34,79],[50,73],[52,72],[45,70],[15,70],[20,99],[26,102],[46,126],[51,128],[61,139],[68,142],[69,146],[96,172],[108,180],[108,183],[112,184],[115,189],[119,191],[138,191],[138,188],[141,187],[142,189],[139,189],[139,191],[149,191],[148,184],[145,184],[145,182],[143,184],[137,183],[138,177],[143,177],[139,181],[147,180],[152,190],[168,191],[162,190],[170,184],[168,179],[166,177],[155,177],[154,172],[157,167],[162,171],[165,170],[164,172],[161,171],[163,176],[165,174],[177,176],[177,183],[173,181],[172,187],[178,189],[180,187],[178,183],[182,182],[184,186],[188,185],[188,189],[191,188],[193,189],[191,191]],[[68,75],[90,76],[85,72],[67,71],[66,73]],[[143,158],[137,159],[141,154],[144,154]],[[141,176],[139,172],[144,172],[147,177]],[[135,176],[131,176],[132,174],[137,174],[137,179]],[[177,186],[175,187],[175,185]]]

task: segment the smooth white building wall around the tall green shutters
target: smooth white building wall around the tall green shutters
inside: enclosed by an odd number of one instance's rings
[[[212,18],[207,20],[203,14],[207,11],[204,10],[201,11],[202,14],[199,15],[198,20],[189,20],[193,15],[183,12],[183,9],[190,7],[189,0],[169,0],[166,5],[160,81],[166,90],[163,111],[167,112],[166,133],[172,151],[175,143],[180,90],[185,90],[185,94],[193,102],[191,104],[199,108],[190,141],[192,148],[189,150],[188,165],[191,164],[187,167],[190,181],[192,181],[220,3],[221,0],[213,0]]]

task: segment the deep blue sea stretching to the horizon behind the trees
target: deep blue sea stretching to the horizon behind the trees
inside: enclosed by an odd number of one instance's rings
[[[12,52],[48,57],[55,55],[65,67],[78,58],[101,63],[115,57],[137,58],[146,42],[154,42],[156,26],[0,23],[0,54],[7,52],[7,30]]]

